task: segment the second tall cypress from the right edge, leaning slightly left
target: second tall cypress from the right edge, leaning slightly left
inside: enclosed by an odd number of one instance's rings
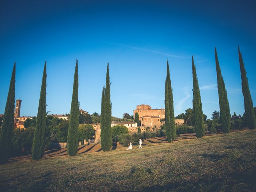
[[[215,62],[217,72],[219,105],[220,105],[220,123],[222,132],[229,133],[230,131],[230,108],[228,103],[228,95],[225,88],[224,80],[220,70],[220,64],[218,60],[217,50],[215,48]]]

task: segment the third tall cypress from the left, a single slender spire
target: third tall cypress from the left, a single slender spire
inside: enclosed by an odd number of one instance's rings
[[[79,102],[78,102],[78,60],[74,74],[73,94],[70,109],[70,120],[68,126],[67,148],[68,155],[74,156],[78,151],[78,123],[79,123]]]

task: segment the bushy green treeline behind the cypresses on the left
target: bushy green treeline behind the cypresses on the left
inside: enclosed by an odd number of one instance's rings
[[[52,142],[67,142],[68,126],[69,120],[54,118],[50,115],[46,117],[45,150],[51,149],[50,146]],[[32,152],[36,117],[26,119],[24,127],[25,129],[14,129],[11,156],[30,154]],[[78,141],[84,144],[84,139],[86,141],[92,139],[94,133],[95,131],[91,125],[81,125],[78,128]]]

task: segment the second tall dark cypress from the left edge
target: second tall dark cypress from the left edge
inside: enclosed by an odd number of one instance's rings
[[[39,98],[38,112],[36,118],[36,128],[32,144],[32,159],[41,159],[44,155],[45,130],[46,130],[46,62],[42,78],[41,92]]]

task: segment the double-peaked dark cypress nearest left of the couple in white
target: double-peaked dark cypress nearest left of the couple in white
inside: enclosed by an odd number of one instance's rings
[[[104,88],[103,88],[104,90]],[[107,66],[106,74],[106,88],[103,101],[103,116],[101,116],[101,132],[100,132],[100,144],[102,150],[109,151],[112,146],[112,132],[111,132],[111,102],[110,102],[110,77],[109,77],[109,68]],[[103,121],[103,122],[102,122]]]

